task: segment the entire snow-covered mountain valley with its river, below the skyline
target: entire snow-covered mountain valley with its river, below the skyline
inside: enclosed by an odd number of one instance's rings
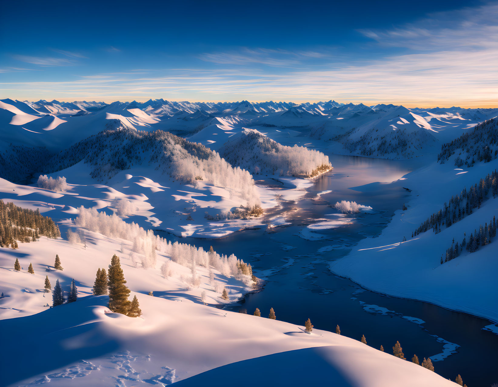
[[[496,116],[1,99],[1,385],[249,386],[248,369],[265,386],[488,383]],[[95,290],[115,255],[137,317]],[[77,300],[53,305],[73,281]],[[470,315],[475,346],[429,320],[443,308]],[[275,374],[288,364],[308,371]]]

